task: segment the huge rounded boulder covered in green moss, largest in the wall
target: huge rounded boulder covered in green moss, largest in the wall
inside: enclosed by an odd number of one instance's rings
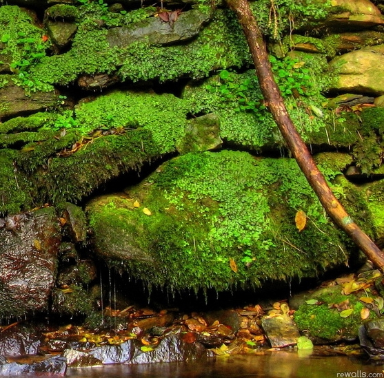
[[[299,209],[308,216],[300,233]],[[312,277],[349,253],[293,159],[185,154],[87,212],[101,258],[171,290]]]

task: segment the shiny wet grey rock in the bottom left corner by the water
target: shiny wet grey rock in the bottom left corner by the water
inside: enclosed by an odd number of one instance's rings
[[[65,375],[67,364],[64,357],[50,357],[32,364],[10,362],[0,364],[0,376],[13,377],[17,375]]]

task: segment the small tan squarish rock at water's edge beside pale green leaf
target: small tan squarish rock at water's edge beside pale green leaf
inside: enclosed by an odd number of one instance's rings
[[[299,329],[289,315],[267,315],[261,319],[261,325],[272,348],[296,345],[300,337]]]

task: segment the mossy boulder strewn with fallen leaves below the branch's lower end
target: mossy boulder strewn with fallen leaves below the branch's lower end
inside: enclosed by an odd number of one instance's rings
[[[381,317],[383,299],[375,284],[383,279],[379,271],[341,277],[329,286],[294,295],[294,322],[316,343],[352,341],[364,322]]]

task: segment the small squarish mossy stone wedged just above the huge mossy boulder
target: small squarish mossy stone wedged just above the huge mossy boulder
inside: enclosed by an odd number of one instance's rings
[[[216,114],[193,118],[185,129],[185,137],[177,147],[180,154],[208,151],[221,147],[220,119]]]

